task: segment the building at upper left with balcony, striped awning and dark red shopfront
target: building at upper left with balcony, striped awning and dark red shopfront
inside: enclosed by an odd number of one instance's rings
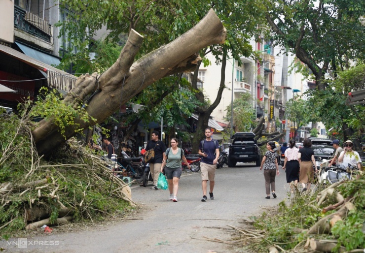
[[[66,13],[53,0],[0,1],[0,84],[13,90],[0,92],[1,106],[16,108],[44,86],[61,92],[73,88],[76,77],[55,67],[60,49],[68,47],[54,25]]]

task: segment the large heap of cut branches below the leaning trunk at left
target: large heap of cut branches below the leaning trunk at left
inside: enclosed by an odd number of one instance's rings
[[[1,234],[123,216],[135,206],[129,184],[76,139],[57,157],[38,157],[26,114],[0,117]]]

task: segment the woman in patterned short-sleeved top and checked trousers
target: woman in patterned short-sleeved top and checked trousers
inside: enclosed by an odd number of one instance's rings
[[[265,189],[266,189],[266,197],[267,199],[270,198],[270,186],[272,195],[274,198],[276,198],[275,193],[275,177],[276,175],[280,175],[279,172],[279,165],[278,165],[278,156],[276,151],[274,149],[276,148],[275,142],[269,141],[266,144],[266,153],[264,157],[262,158],[260,170],[262,170],[263,165],[263,176],[265,178]],[[276,171],[275,171],[276,169]]]

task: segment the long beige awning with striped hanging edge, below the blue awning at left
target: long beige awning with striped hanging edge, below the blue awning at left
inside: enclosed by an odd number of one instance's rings
[[[0,44],[0,52],[7,54],[34,68],[37,68],[41,72],[45,73],[47,75],[49,87],[69,92],[73,89],[76,83],[77,77],[55,67],[52,67],[51,65],[43,63],[37,59],[34,59],[30,56],[27,56],[19,51],[16,51],[15,49]]]

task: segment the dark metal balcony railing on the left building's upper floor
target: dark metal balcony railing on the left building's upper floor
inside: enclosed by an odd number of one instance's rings
[[[51,42],[51,25],[16,5],[14,6],[14,27]]]

